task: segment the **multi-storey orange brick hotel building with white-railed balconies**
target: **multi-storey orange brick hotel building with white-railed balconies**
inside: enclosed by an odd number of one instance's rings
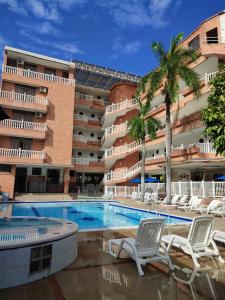
[[[213,180],[225,158],[204,136],[201,110],[209,81],[225,58],[225,13],[205,20],[182,42],[199,54],[190,67],[201,78],[201,96],[180,81],[171,107],[172,179]],[[67,62],[5,47],[0,90],[0,189],[15,193],[98,192],[103,184],[128,185],[140,174],[140,145],[127,121],[138,113],[140,77],[79,61]],[[162,87],[148,117],[162,123],[146,138],[146,173],[165,168]]]

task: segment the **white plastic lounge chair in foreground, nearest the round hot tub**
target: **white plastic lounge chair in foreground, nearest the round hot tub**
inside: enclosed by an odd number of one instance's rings
[[[140,276],[144,275],[141,265],[146,265],[153,261],[165,261],[172,270],[173,265],[169,254],[165,245],[161,242],[164,221],[164,219],[159,218],[141,220],[136,239],[124,238],[109,240],[109,253],[113,257],[118,258],[120,252],[125,249],[131,258],[135,260]],[[117,254],[113,252],[114,245],[118,247]]]

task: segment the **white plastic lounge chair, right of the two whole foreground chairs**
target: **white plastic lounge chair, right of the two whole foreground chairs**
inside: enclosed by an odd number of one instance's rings
[[[162,236],[162,241],[167,244],[168,251],[171,246],[174,246],[190,255],[196,268],[200,268],[198,259],[202,256],[216,256],[221,263],[224,263],[224,260],[212,239],[212,225],[213,217],[196,217],[191,224],[188,238],[169,234]]]

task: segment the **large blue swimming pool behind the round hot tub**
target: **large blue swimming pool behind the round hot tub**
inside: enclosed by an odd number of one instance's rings
[[[156,212],[135,209],[105,202],[45,202],[13,204],[12,216],[63,218],[78,224],[79,230],[126,228],[137,226],[141,219],[155,218]],[[191,219],[176,216],[165,217],[166,224],[183,224]]]

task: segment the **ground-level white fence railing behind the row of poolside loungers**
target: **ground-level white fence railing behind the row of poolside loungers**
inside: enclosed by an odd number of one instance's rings
[[[131,197],[133,192],[140,192],[140,184],[136,187],[130,186],[105,186],[106,192],[113,192],[115,197]],[[145,183],[145,189],[151,189],[153,193],[164,192],[165,183]],[[198,197],[224,197],[225,182],[218,181],[176,181],[171,183],[172,194],[188,195]]]

